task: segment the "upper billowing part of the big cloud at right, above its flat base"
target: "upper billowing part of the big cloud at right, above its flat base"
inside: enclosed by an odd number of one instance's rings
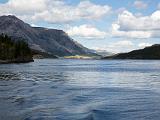
[[[121,30],[157,30],[160,29],[160,11],[140,17],[124,11],[118,16],[118,22]]]

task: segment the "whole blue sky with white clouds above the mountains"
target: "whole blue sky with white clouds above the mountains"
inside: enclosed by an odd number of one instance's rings
[[[0,15],[64,30],[99,51],[128,52],[160,44],[159,0],[0,0]]]

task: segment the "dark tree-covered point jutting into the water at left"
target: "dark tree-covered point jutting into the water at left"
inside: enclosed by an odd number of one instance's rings
[[[32,52],[23,40],[13,41],[7,35],[0,35],[0,60],[27,62],[32,60]]]

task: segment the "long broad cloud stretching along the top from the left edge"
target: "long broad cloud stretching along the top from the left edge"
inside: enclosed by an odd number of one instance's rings
[[[0,14],[14,14],[23,20],[66,23],[81,19],[100,19],[111,11],[108,5],[80,1],[69,5],[65,0],[9,0],[0,4]]]

